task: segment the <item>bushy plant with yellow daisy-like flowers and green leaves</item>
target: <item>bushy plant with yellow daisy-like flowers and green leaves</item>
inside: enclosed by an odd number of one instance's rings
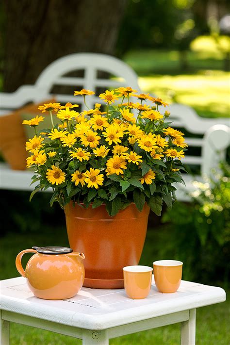
[[[181,158],[187,144],[183,133],[166,122],[170,113],[159,111],[159,106],[167,104],[136,93],[131,87],[106,90],[99,95],[106,105],[103,111],[99,103],[88,109],[86,99],[94,92],[82,89],[74,95],[83,97],[87,110],[79,113],[77,104],[49,103],[39,109],[49,112],[51,129],[36,130],[43,116],[23,121],[35,130],[26,143],[32,153],[27,167],[35,169],[32,183],[39,182],[31,198],[52,187],[50,205],[58,201],[64,208],[73,201],[96,208],[103,203],[112,216],[132,202],[139,211],[147,202],[157,215],[163,200],[171,207],[176,190],[172,184],[183,182]],[[131,96],[137,98],[136,103],[130,101]],[[53,113],[60,120],[56,126]]]

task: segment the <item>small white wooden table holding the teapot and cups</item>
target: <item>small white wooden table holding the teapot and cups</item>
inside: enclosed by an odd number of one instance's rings
[[[110,338],[181,322],[181,345],[194,345],[196,308],[226,299],[221,288],[189,281],[175,294],[161,294],[153,279],[141,300],[128,298],[124,289],[82,288],[60,301],[34,297],[22,277],[0,283],[1,345],[9,344],[10,322],[79,338],[84,345],[108,345]]]

